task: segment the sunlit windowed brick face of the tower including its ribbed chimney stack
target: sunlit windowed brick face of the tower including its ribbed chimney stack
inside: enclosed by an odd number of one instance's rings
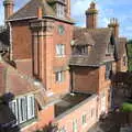
[[[44,31],[43,33],[42,30],[37,31],[38,29],[32,29],[32,34],[34,34],[32,43],[35,46],[33,46],[33,73],[36,74],[36,77],[38,76],[38,78],[43,81],[47,90],[53,90],[54,92],[59,94],[67,92],[69,90],[68,59],[70,57],[73,25],[61,21],[52,21],[50,19],[42,22],[47,22],[53,28],[51,30]],[[61,34],[58,31],[59,26],[64,26],[63,34]],[[40,35],[37,35],[37,33]],[[57,44],[65,45],[64,56],[57,56]],[[36,47],[36,45],[38,46]],[[65,79],[63,81],[56,82],[56,72],[64,73]]]

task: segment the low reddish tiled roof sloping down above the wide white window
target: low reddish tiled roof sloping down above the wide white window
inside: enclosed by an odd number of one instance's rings
[[[50,103],[50,99],[54,101],[58,99],[52,91],[50,96],[40,80],[19,73],[0,57],[0,97],[9,92],[14,97],[34,94],[41,108]]]

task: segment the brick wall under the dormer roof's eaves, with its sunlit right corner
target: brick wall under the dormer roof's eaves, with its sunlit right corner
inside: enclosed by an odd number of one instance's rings
[[[98,117],[108,112],[111,80],[106,79],[106,65],[99,68],[73,67],[73,89],[98,94]]]

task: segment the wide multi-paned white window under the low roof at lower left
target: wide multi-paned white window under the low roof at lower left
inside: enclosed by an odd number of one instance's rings
[[[19,97],[9,102],[9,107],[15,116],[16,124],[35,118],[34,95]]]

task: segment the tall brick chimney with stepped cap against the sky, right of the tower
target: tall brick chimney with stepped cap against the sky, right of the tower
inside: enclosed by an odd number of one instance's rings
[[[86,11],[86,26],[88,29],[97,28],[97,14],[98,10],[96,9],[96,3],[91,2],[90,8]]]

